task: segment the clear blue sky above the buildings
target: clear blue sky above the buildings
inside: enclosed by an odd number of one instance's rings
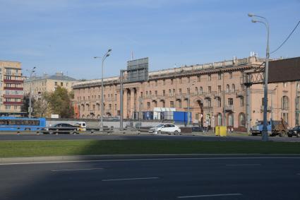
[[[20,61],[23,74],[62,71],[73,78],[119,76],[127,61],[149,57],[149,71],[265,57],[300,20],[300,0],[0,0],[0,60]],[[300,26],[271,58],[300,57]]]

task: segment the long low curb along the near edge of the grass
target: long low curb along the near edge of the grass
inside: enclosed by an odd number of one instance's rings
[[[22,163],[42,163],[42,162],[71,162],[88,160],[118,160],[118,159],[150,159],[150,158],[216,158],[216,157],[299,157],[300,154],[259,154],[259,153],[235,153],[235,154],[129,154],[129,155],[59,155],[40,157],[17,157],[0,158],[1,164],[22,164]]]

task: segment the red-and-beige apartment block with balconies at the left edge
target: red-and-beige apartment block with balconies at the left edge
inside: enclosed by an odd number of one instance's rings
[[[0,114],[1,116],[23,115],[23,76],[18,61],[0,60]]]

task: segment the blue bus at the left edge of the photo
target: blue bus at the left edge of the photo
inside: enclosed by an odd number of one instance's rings
[[[44,127],[45,118],[0,117],[0,131],[37,131]]]

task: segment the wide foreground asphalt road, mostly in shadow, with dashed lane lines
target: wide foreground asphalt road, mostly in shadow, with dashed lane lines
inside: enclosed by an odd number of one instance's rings
[[[30,200],[300,199],[300,157],[266,156],[0,165],[0,196]]]

